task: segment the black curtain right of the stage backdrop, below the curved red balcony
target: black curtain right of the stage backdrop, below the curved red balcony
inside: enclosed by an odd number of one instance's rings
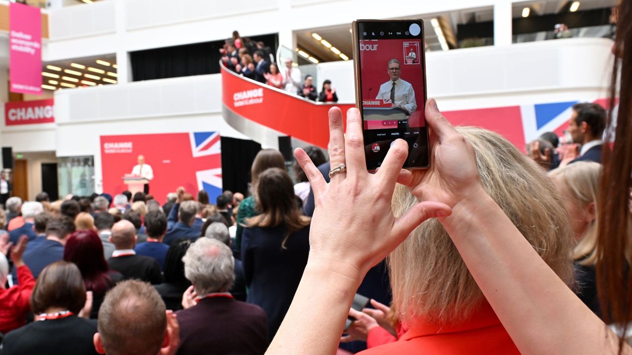
[[[248,196],[250,167],[261,145],[252,140],[222,137],[222,188]]]

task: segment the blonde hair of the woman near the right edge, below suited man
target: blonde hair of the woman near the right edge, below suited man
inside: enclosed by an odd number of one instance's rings
[[[597,229],[599,227],[597,206],[599,206],[600,172],[601,164],[596,162],[576,162],[549,172],[550,178],[568,191],[572,203],[582,208],[588,203],[595,203],[595,220],[590,223],[588,230],[581,236],[571,252],[573,259],[585,266],[597,264]]]

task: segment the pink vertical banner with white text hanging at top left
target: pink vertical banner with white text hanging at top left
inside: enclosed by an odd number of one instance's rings
[[[42,93],[40,9],[9,3],[9,81],[11,92]]]

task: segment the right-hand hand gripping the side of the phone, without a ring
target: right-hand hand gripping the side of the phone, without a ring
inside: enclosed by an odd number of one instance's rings
[[[464,198],[484,193],[474,148],[428,100],[425,116],[430,126],[430,168],[401,171],[398,183],[408,186],[419,201],[442,202],[451,208]]]

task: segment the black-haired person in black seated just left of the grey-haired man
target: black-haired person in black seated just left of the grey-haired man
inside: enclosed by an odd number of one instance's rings
[[[182,262],[189,246],[191,239],[176,239],[171,243],[164,261],[164,282],[154,286],[167,310],[181,310],[182,295],[191,286],[191,282],[185,277],[185,264]]]

